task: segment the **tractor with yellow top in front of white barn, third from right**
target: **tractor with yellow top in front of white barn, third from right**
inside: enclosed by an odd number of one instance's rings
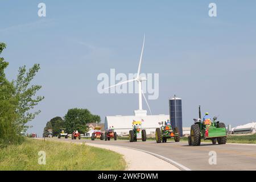
[[[147,140],[146,130],[142,130],[141,121],[133,121],[133,130],[129,131],[129,141],[137,142],[137,139],[141,138],[143,142]]]

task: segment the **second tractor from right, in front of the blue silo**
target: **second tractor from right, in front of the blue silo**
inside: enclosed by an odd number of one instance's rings
[[[159,125],[161,125],[161,123],[159,123]],[[163,121],[162,121],[162,126],[155,130],[156,143],[161,143],[161,141],[163,143],[166,143],[167,138],[172,138],[172,137],[174,138],[175,142],[180,141],[179,129],[175,127],[174,130],[172,130],[171,122],[168,122],[168,121],[164,122],[164,125],[163,125]]]

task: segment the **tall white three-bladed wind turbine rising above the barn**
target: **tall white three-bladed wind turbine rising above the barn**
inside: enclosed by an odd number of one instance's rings
[[[142,51],[141,51],[141,58],[139,59],[139,67],[138,67],[137,77],[134,78],[134,79],[131,79],[131,80],[126,80],[126,81],[119,82],[118,84],[109,86],[108,88],[105,88],[105,89],[109,89],[109,88],[112,88],[112,87],[117,86],[117,85],[127,84],[127,83],[129,83],[129,82],[137,81],[137,82],[138,82],[138,91],[139,91],[139,92],[138,92],[138,93],[139,93],[139,110],[142,111],[142,96],[143,96],[143,97],[144,97],[144,100],[146,101],[148,110],[150,110],[150,114],[152,114],[152,113],[151,113],[150,106],[148,105],[147,100],[146,100],[146,97],[145,97],[145,95],[144,95],[144,93],[143,93],[143,90],[142,90],[142,81],[146,81],[147,78],[146,78],[146,77],[140,77],[140,76],[139,76],[139,73],[141,72],[141,62],[142,62],[142,56],[143,56],[143,51],[144,51],[144,43],[145,43],[145,34],[144,34],[144,38],[143,38],[143,45],[142,45]]]

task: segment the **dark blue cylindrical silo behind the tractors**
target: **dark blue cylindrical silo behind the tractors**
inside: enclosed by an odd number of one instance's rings
[[[180,136],[182,137],[182,105],[181,98],[178,98],[174,95],[173,98],[169,100],[169,109],[170,109],[170,119],[172,124],[172,129],[178,127],[180,131]]]

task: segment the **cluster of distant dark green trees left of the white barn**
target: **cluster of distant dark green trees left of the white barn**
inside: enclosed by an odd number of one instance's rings
[[[52,134],[57,136],[61,130],[65,133],[71,134],[74,130],[78,130],[79,133],[86,133],[88,131],[87,123],[100,122],[99,115],[93,115],[88,109],[69,109],[64,118],[55,117],[46,123],[44,127],[43,136],[48,136],[48,130],[52,130]]]

